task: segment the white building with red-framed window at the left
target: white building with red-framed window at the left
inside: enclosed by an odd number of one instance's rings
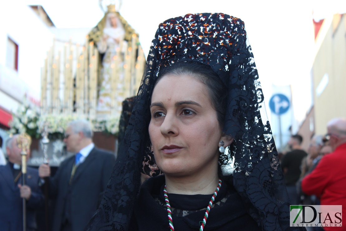
[[[11,113],[23,99],[40,105],[40,69],[53,34],[31,7],[17,2],[1,6],[0,20],[0,136],[5,141]]]

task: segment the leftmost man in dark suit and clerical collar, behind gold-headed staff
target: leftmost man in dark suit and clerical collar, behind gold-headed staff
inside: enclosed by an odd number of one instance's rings
[[[22,183],[21,149],[18,135],[7,140],[7,165],[0,166],[0,230],[23,230],[23,199],[26,199],[26,229],[37,229],[36,210],[44,205],[44,197],[38,186],[37,169],[27,167],[26,185]],[[27,151],[28,157],[30,155]]]

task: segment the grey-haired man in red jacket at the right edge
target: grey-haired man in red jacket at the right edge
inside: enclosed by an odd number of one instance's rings
[[[302,190],[315,194],[321,205],[342,205],[342,218],[346,217],[346,119],[335,118],[327,125],[329,145],[332,153],[325,155],[316,168],[302,180]],[[345,220],[344,220],[345,221]],[[346,230],[344,229],[340,230]],[[325,230],[338,230],[324,227]]]

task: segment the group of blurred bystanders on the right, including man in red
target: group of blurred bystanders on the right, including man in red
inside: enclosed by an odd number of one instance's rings
[[[313,135],[308,153],[301,149],[301,142],[302,136],[293,135],[288,142],[291,151],[281,159],[291,204],[342,205],[342,218],[345,217],[346,119],[331,119],[326,135]],[[307,229],[343,230],[328,226]]]

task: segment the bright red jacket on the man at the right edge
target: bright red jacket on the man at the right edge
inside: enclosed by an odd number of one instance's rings
[[[342,205],[343,227],[326,227],[325,230],[346,230],[346,143],[324,156],[304,177],[302,190],[308,195],[317,195],[321,205]]]

